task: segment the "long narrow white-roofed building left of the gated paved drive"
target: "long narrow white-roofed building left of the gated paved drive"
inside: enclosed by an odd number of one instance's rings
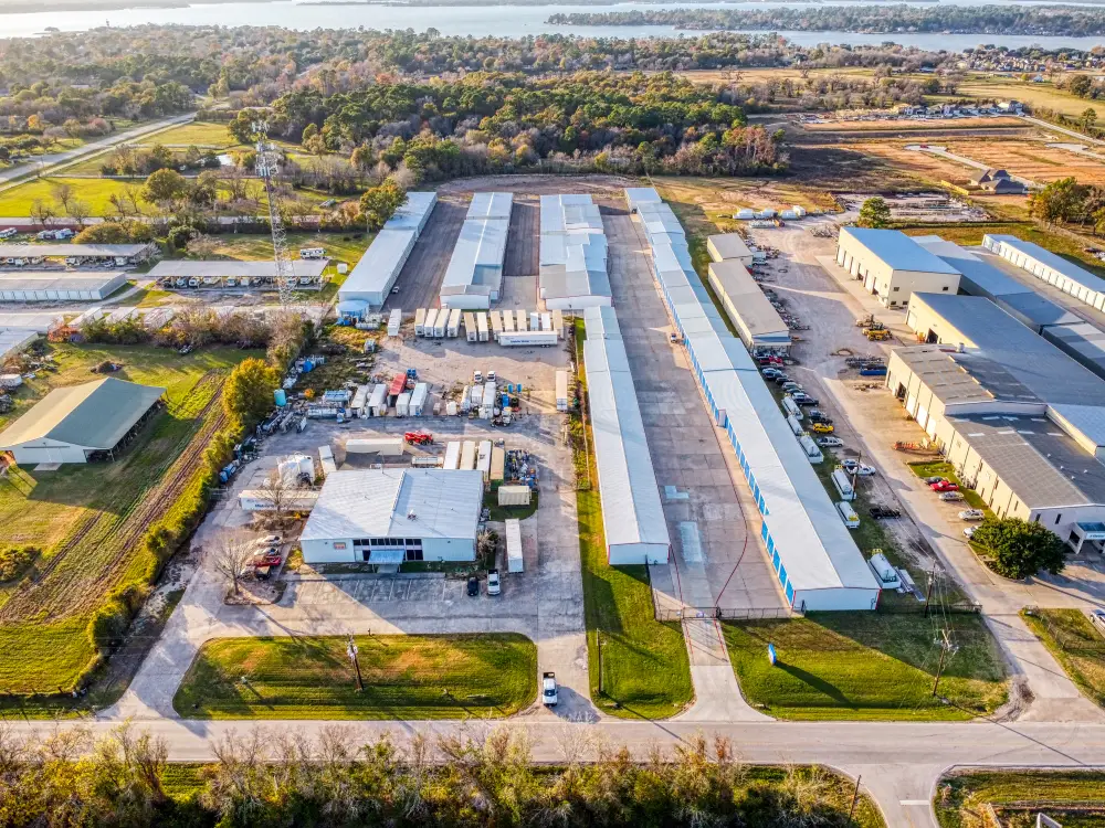
[[[666,563],[671,537],[644,422],[613,308],[583,311],[594,460],[602,499],[602,528],[611,564]]]

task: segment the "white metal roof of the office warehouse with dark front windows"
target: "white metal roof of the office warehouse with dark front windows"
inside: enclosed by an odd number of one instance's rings
[[[352,469],[326,476],[301,540],[475,540],[483,475],[457,469]],[[413,514],[413,519],[409,516]]]

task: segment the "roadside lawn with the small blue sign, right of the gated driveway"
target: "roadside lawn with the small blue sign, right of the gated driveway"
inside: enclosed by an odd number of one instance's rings
[[[949,618],[959,650],[939,693],[951,703],[933,696],[940,624],[919,615],[811,613],[722,626],[745,698],[779,719],[961,721],[994,710],[1007,698],[1004,668],[976,615]]]

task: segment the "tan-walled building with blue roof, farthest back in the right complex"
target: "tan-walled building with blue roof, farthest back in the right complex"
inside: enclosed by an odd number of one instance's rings
[[[959,290],[959,270],[898,230],[842,227],[836,264],[887,308],[905,309],[916,293]]]

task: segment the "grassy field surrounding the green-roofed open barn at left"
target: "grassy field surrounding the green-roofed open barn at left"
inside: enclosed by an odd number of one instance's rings
[[[50,389],[95,379],[91,368],[108,359],[124,365],[116,376],[166,388],[168,404],[115,463],[43,473],[17,467],[0,481],[4,540],[42,549],[21,580],[0,586],[0,689],[20,692],[69,687],[88,664],[92,648],[84,629],[91,613],[131,575],[138,552],[131,537],[145,530],[151,513],[171,506],[145,496],[201,426],[214,422],[222,378],[251,352],[204,349],[180,357],[145,347],[65,344],[52,346],[51,353],[57,371],[29,380],[0,427]]]

